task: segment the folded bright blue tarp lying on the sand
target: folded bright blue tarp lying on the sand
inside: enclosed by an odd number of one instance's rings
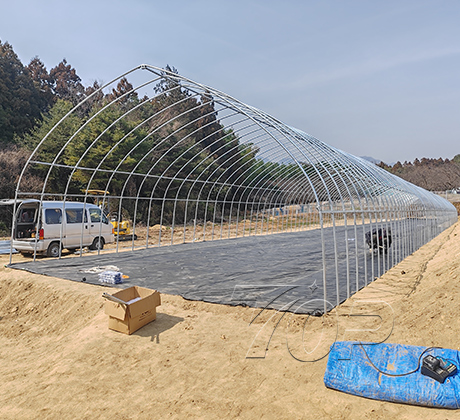
[[[419,359],[421,355],[423,358],[428,354],[449,360],[457,369],[460,367],[457,350],[339,341],[331,347],[324,383],[328,388],[376,400],[460,408],[458,371],[444,383],[422,375],[422,360],[419,364]],[[398,375],[414,370],[416,371],[404,376],[388,376],[382,373]]]

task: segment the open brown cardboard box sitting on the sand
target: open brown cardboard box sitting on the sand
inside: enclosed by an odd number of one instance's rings
[[[112,296],[126,304],[106,300],[105,313],[109,316],[109,328],[125,334],[132,334],[153,321],[157,316],[156,307],[161,305],[160,292],[145,287],[129,287]]]

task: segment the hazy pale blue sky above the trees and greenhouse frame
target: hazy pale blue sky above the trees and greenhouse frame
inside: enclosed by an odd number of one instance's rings
[[[179,73],[357,156],[460,154],[458,0],[0,0],[24,65]]]

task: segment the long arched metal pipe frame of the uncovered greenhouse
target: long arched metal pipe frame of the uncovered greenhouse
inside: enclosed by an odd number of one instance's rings
[[[108,100],[105,95],[122,78],[145,75],[146,80],[120,96]],[[149,94],[142,100],[125,104],[131,95],[145,91]],[[105,95],[102,106],[81,119],[68,137],[60,136],[58,127],[67,118],[79,117],[83,105],[96,95]],[[102,121],[106,110],[116,112],[112,120]],[[125,120],[132,121],[126,129]],[[73,156],[76,163],[63,160],[90,124],[98,124],[98,133],[86,139],[88,146],[79,156]],[[121,133],[107,146],[102,139],[112,129]],[[49,160],[38,158],[46,156],[41,151],[51,142],[59,149],[55,155]],[[124,149],[126,144],[129,147]],[[140,154],[146,146],[148,150]],[[97,163],[85,165],[98,147],[105,150]],[[54,168],[65,169],[67,178],[54,179]],[[42,170],[41,190],[21,191],[29,170]],[[78,171],[82,177],[76,176]],[[81,194],[74,191],[78,179],[86,182]],[[53,190],[52,180],[61,189],[55,186]],[[226,93],[146,64],[101,86],[52,127],[26,162],[15,199],[32,197],[43,202],[60,196],[64,202],[87,203],[93,199],[88,191],[93,186],[104,191],[102,207],[115,202],[118,225],[123,210],[129,213],[132,228],[142,236],[139,240],[132,236],[131,250],[320,229],[325,302],[331,283],[339,303],[352,293],[351,276],[357,291],[457,220],[455,208],[443,198]],[[16,227],[14,220],[13,234]],[[382,227],[393,232],[395,245],[372,253],[369,259],[366,232]],[[120,230],[117,234],[116,251],[122,247]],[[332,238],[331,248],[326,236]],[[59,241],[63,240],[61,230]],[[328,255],[333,266],[326,261]],[[346,263],[345,280],[339,276],[342,262]],[[345,295],[339,287],[343,281]]]

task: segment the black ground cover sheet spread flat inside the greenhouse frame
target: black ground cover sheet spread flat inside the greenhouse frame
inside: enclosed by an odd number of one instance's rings
[[[355,293],[383,274],[385,267],[389,268],[388,263],[398,242],[395,235],[392,247],[383,257],[369,251],[363,240],[366,230],[366,226],[323,230],[326,299],[319,229],[152,247],[134,252],[101,253],[81,258],[41,258],[15,263],[11,267],[101,284],[98,274],[88,270],[116,266],[129,276],[116,287],[137,285],[190,300],[314,313],[322,312],[325,305],[328,310],[332,309],[347,298],[347,291],[350,295]]]

